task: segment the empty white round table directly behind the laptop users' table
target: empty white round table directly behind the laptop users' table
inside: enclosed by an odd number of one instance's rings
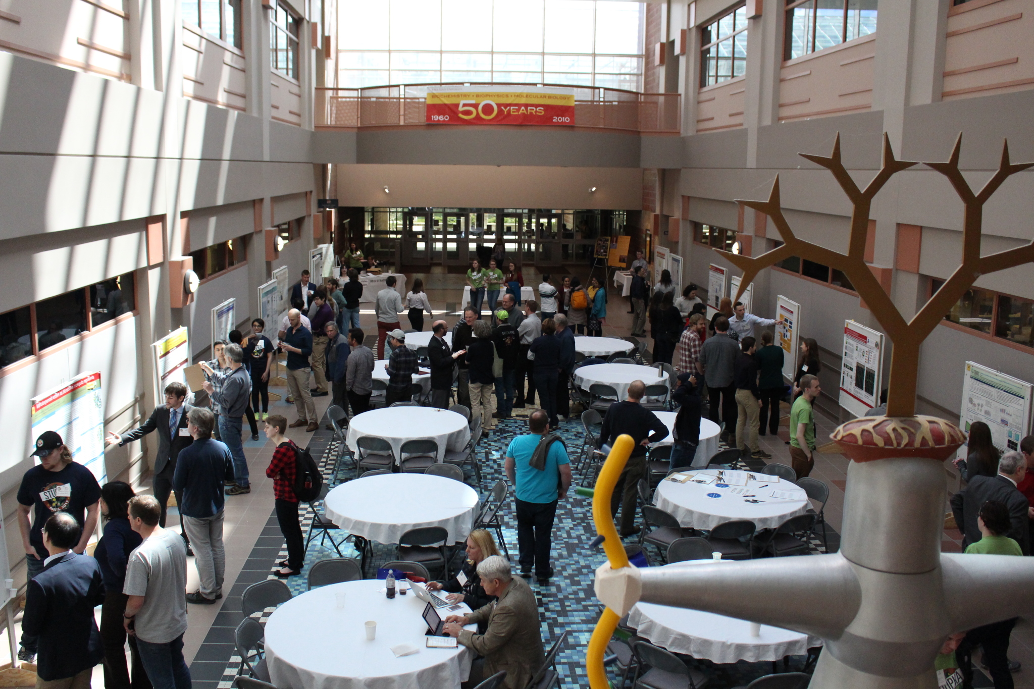
[[[443,527],[449,543],[465,540],[474,525],[478,493],[454,478],[381,474],[341,483],[324,509],[345,531],[378,543],[397,543],[409,529]]]

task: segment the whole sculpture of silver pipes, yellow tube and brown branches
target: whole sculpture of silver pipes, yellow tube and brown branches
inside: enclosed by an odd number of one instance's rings
[[[629,566],[609,511],[610,493],[631,451],[631,439],[628,446],[619,439],[600,473],[592,506],[608,557],[596,575],[597,597],[607,610],[586,658],[592,689],[608,686],[603,651],[617,620],[639,600],[820,636],[825,651],[813,689],[934,689],[934,658],[948,634],[1034,610],[1034,559],[940,552],[942,464],[965,436],[948,421],[914,415],[923,340],[980,275],[1034,260],[1034,242],[980,255],[983,205],[1006,179],[1034,163],[1011,164],[1006,143],[998,170],[974,192],[959,168],[961,143],[960,134],[947,162],[924,164],[948,178],[966,207],[962,264],[909,321],[863,257],[873,197],[891,176],[916,164],[895,160],[885,134],[882,167],[864,190],[841,162],[839,135],[829,157],[801,154],[828,168],[851,199],[846,255],[793,234],[780,205],[778,177],[767,201],[740,201],[771,218],[785,244],[757,257],[719,252],[742,269],[739,291],[761,269],[790,256],[843,271],[893,343],[887,415],[856,418],[831,436],[852,460],[839,553],[731,566]]]

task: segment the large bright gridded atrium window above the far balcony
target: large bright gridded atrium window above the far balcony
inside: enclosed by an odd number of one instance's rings
[[[642,88],[644,4],[342,0],[341,88],[525,83]]]

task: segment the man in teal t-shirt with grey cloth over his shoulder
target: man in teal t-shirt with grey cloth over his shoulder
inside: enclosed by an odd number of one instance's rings
[[[557,501],[567,496],[571,488],[571,463],[564,442],[557,438],[549,445],[541,468],[533,466],[535,450],[549,433],[549,416],[537,409],[531,412],[527,425],[530,433],[517,436],[507,448],[506,470],[517,499],[521,576],[530,576],[534,564],[539,584],[545,585],[553,575],[549,566],[553,519]]]

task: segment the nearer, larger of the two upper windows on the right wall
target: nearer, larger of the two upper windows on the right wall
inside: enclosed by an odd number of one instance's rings
[[[876,32],[877,0],[787,0],[783,59]]]

